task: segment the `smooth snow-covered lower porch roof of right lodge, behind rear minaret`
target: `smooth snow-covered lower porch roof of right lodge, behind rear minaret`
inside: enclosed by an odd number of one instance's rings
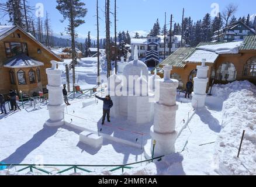
[[[215,52],[196,50],[192,56],[185,60],[185,62],[199,63],[202,59],[206,59],[206,63],[215,63],[217,57],[219,57],[219,54],[216,54]]]

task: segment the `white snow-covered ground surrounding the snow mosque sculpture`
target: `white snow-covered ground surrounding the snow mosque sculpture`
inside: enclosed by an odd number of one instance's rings
[[[59,68],[63,70],[64,81],[65,67],[60,64]],[[105,74],[104,64],[102,69],[102,74]],[[79,61],[76,81],[82,89],[96,85],[96,70],[96,58],[82,58]],[[191,106],[191,99],[185,99],[184,93],[178,94],[177,153],[165,156],[160,162],[133,165],[133,169],[125,169],[124,175],[256,174],[255,86],[248,81],[237,81],[215,85],[212,93],[206,98],[206,108],[196,111]],[[44,125],[49,118],[45,105],[38,110],[1,115],[0,162],[120,165],[145,160],[144,146],[150,141],[149,131],[153,123],[133,127],[126,120],[112,119],[111,123],[101,126],[101,101],[92,98],[70,102],[71,106],[65,109],[65,126],[60,128]],[[82,107],[82,102],[88,102],[88,105]],[[103,146],[95,149],[79,143],[82,130],[105,134]],[[236,155],[243,130],[245,139],[238,159]],[[17,169],[20,168],[11,168],[11,174],[18,174],[15,172]],[[54,168],[51,169],[54,171]],[[95,171],[90,175],[122,174],[120,170],[106,172],[113,167],[87,169]],[[6,171],[0,171],[0,175],[5,174]]]

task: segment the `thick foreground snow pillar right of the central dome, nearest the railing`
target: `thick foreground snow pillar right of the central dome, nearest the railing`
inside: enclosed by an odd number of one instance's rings
[[[156,141],[154,157],[169,155],[175,153],[175,141],[177,138],[176,95],[179,82],[176,79],[170,79],[171,66],[164,67],[164,79],[159,81],[160,96],[159,101],[155,103],[154,125],[150,129],[152,137],[151,154],[153,153],[153,141]]]

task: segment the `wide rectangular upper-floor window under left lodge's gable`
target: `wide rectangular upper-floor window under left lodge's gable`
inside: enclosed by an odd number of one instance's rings
[[[6,57],[14,57],[18,54],[28,55],[27,43],[5,42],[5,53]]]

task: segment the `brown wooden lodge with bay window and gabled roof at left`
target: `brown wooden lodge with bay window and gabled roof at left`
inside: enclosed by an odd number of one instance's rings
[[[51,60],[62,61],[20,27],[0,26],[0,93],[46,91]]]

